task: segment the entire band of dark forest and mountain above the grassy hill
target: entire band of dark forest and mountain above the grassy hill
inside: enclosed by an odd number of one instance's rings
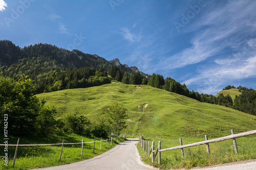
[[[106,61],[97,55],[68,51],[50,44],[35,44],[20,48],[9,40],[0,41],[0,76],[18,80],[28,75],[35,83],[35,93],[51,92],[71,88],[86,88],[111,83],[110,75],[124,84],[149,85],[196,99],[200,102],[231,107],[256,115],[256,93],[243,90],[234,102],[230,95],[204,94],[189,91],[185,84],[162,75],[151,76],[137,67],[120,64],[118,59]],[[233,86],[227,86],[230,89]],[[249,107],[247,107],[247,105]]]

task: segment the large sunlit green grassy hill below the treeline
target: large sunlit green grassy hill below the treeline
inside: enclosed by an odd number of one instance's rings
[[[127,109],[129,126],[122,133],[130,135],[193,137],[230,129],[240,129],[236,133],[244,132],[255,129],[256,124],[256,116],[143,85],[112,82],[37,96],[45,98],[48,105],[55,105],[59,117],[76,113],[91,120],[104,117],[105,108],[117,102]]]

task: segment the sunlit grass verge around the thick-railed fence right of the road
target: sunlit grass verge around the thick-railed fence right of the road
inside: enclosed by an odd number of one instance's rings
[[[224,136],[226,134],[223,134]],[[227,134],[228,135],[228,134]],[[208,138],[211,139],[211,138]],[[157,148],[159,139],[150,139],[150,147],[152,141],[155,141],[155,149]],[[186,138],[183,144],[194,143],[203,141],[204,137],[199,138]],[[173,150],[161,152],[161,165],[158,165],[158,155],[155,158],[155,162],[152,163],[151,156],[141,149],[137,144],[137,149],[143,160],[143,162],[150,164],[160,169],[190,169],[193,167],[211,166],[229,162],[237,162],[243,160],[256,159],[256,137],[247,136],[237,138],[238,154],[234,152],[233,141],[225,140],[221,142],[209,143],[210,155],[206,151],[206,145],[199,145],[196,147],[184,148],[184,157],[181,156],[181,150]],[[161,149],[177,147],[179,146],[179,139],[161,139]]]

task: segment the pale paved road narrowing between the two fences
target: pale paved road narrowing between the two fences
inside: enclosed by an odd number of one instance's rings
[[[38,168],[40,170],[80,170],[80,169],[156,169],[144,165],[139,158],[139,153],[136,148],[136,143],[139,139],[129,139],[128,141],[118,144],[115,148],[111,149],[104,154],[97,157],[87,159],[81,162],[71,163],[67,165],[52,166],[45,168]]]

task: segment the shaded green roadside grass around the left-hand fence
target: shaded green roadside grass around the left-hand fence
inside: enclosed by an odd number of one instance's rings
[[[20,138],[19,144],[48,144],[48,143],[78,143],[81,140],[84,142],[94,141],[92,138],[86,138],[75,134],[59,134],[53,135],[49,138]],[[105,139],[102,139],[105,140]],[[100,138],[96,138],[96,141],[100,141]],[[81,144],[65,144],[63,146],[61,160],[59,161],[61,145],[51,146],[19,146],[17,152],[17,159],[15,166],[13,167],[13,157],[16,147],[8,146],[8,166],[4,165],[4,158],[0,157],[0,169],[33,169],[41,167],[56,166],[62,164],[73,163],[98,156],[111,148],[114,148],[118,143],[121,143],[124,139],[115,140],[115,143],[106,146],[106,142],[102,141],[101,150],[100,142],[95,142],[95,152],[93,153],[94,143],[83,144],[83,155],[81,156]],[[16,137],[9,137],[9,144],[16,144]],[[0,154],[4,155],[4,147],[1,146]]]

